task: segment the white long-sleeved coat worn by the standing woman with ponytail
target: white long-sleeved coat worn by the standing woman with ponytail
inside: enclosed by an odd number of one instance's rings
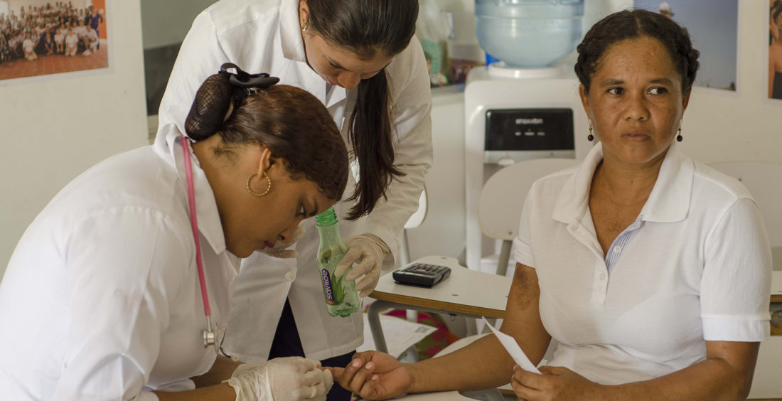
[[[160,104],[158,138],[169,131],[184,132],[184,121],[200,84],[223,63],[231,62],[249,73],[270,73],[281,84],[303,88],[328,107],[343,138],[355,90],[332,87],[307,66],[296,0],[222,0],[195,18],[168,81]],[[371,232],[386,242],[392,255],[384,269],[393,267],[404,224],[418,208],[424,176],[432,163],[432,96],[421,45],[411,45],[394,57],[386,69],[395,130],[395,165],[404,172],[388,188],[387,200],[378,202],[371,216],[344,220],[352,203],[335,206],[342,219],[343,238]],[[306,116],[307,110],[302,110]],[[157,144],[156,144],[157,145]],[[348,145],[348,149],[352,149]],[[353,161],[354,162],[354,161]],[[345,198],[353,193],[357,163],[353,163]],[[278,260],[256,252],[242,262],[231,322],[224,349],[247,362],[267,359],[274,329],[285,298],[289,297],[304,353],[322,360],[348,353],[363,342],[361,315],[330,317],[325,310],[315,253],[317,230],[305,221],[307,234],[296,244],[297,260]]]

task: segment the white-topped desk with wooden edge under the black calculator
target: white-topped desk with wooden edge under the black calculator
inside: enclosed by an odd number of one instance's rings
[[[391,274],[380,277],[375,291],[376,299],[367,310],[369,328],[378,351],[388,352],[386,338],[380,326],[378,313],[387,308],[404,308],[434,313],[450,313],[468,317],[505,316],[505,304],[511,290],[511,277],[483,273],[459,266],[455,258],[425,256],[415,262],[450,267],[450,277],[432,288],[399,285]]]

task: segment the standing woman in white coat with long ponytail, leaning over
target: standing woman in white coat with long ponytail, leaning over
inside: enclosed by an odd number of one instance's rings
[[[156,145],[183,130],[195,89],[228,60],[310,91],[328,107],[350,149],[346,199],[335,210],[351,248],[343,266],[361,261],[347,278],[359,277],[357,288],[366,296],[381,267],[393,267],[432,162],[432,99],[413,37],[417,16],[418,0],[217,2],[195,18],[182,43],[160,105]],[[256,252],[242,261],[222,345],[229,355],[253,363],[300,355],[344,366],[363,342],[361,313],[326,312],[317,231],[310,222],[303,227],[298,256]],[[296,255],[292,249],[273,253]]]

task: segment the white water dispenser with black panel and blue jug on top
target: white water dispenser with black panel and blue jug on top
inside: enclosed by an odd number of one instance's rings
[[[499,245],[482,235],[477,217],[489,177],[520,160],[583,159],[589,152],[579,82],[572,63],[558,63],[581,40],[582,17],[583,0],[475,0],[479,45],[500,61],[473,68],[465,85],[470,268],[497,267]]]

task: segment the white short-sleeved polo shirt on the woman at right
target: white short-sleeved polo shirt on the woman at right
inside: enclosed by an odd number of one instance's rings
[[[588,203],[602,158],[598,143],[536,181],[522,212],[515,260],[536,269],[560,343],[547,364],[615,385],[704,360],[706,341],[768,338],[771,251],[747,189],[672,145],[609,274]]]

